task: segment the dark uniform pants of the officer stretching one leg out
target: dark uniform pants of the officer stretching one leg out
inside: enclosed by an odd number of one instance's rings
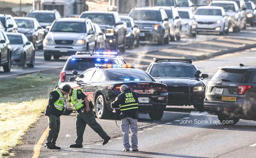
[[[91,109],[89,113],[86,113],[86,110],[84,110],[84,113],[81,111],[76,113],[76,144],[82,145],[86,124],[98,133],[102,139],[108,137],[107,133],[105,133],[100,124],[96,121],[93,110]]]

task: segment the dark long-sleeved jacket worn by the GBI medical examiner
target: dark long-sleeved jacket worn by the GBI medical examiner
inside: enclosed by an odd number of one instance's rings
[[[131,98],[132,100],[129,100],[127,101],[126,98],[126,94],[127,93],[132,93],[132,97],[129,97]],[[126,102],[125,102],[126,101]],[[131,101],[131,102],[130,102]],[[116,100],[111,102],[111,108],[119,108],[120,106],[122,105],[128,105],[128,104],[136,104],[136,103],[139,103],[138,102],[138,96],[137,96],[137,93],[131,91],[130,89],[126,89],[124,90],[121,94],[119,94],[117,97],[116,97]],[[135,109],[129,109],[129,110],[124,110],[122,111],[122,113],[120,114],[120,117],[121,119],[122,118],[125,118],[125,117],[131,117],[131,118],[134,118],[134,119],[138,119],[138,108],[135,108]]]

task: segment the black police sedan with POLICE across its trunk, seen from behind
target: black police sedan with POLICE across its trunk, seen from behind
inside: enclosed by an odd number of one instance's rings
[[[138,94],[139,113],[148,113],[151,119],[161,119],[166,108],[167,86],[156,82],[145,71],[135,69],[134,65],[99,64],[70,81],[73,82],[62,83],[59,87],[69,84],[73,88],[83,88],[93,102],[98,118],[111,114],[110,104],[121,93],[123,84]]]

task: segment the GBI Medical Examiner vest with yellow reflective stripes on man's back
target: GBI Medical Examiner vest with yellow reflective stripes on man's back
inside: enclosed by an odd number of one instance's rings
[[[120,105],[120,110],[131,110],[131,109],[137,109],[138,108],[138,102],[134,99],[134,96],[131,92],[125,93],[125,104]]]

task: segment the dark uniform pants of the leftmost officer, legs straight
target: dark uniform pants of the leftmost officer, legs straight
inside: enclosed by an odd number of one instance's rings
[[[46,145],[47,146],[52,146],[55,145],[56,140],[58,138],[58,133],[60,131],[60,124],[61,124],[61,119],[60,117],[57,117],[55,115],[48,116],[49,120],[49,132],[48,136],[46,139]]]

